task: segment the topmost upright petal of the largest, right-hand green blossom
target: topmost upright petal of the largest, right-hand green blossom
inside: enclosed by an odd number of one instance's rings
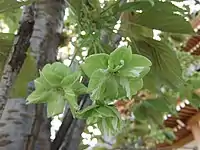
[[[132,51],[131,48],[127,48],[126,46],[119,47],[115,49],[109,57],[108,65],[109,70],[111,72],[116,72],[120,68],[123,67],[123,65],[128,64],[132,59]]]

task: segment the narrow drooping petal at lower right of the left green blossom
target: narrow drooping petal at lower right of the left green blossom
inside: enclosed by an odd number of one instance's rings
[[[67,103],[70,106],[70,110],[71,110],[73,116],[75,116],[75,113],[79,108],[78,104],[77,104],[76,95],[71,88],[64,88],[64,91],[65,91],[65,98],[67,100]]]

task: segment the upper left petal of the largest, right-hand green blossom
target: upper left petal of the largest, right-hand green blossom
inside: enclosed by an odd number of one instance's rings
[[[88,77],[91,77],[96,70],[108,68],[108,58],[109,55],[103,53],[91,55],[86,58],[81,68]]]

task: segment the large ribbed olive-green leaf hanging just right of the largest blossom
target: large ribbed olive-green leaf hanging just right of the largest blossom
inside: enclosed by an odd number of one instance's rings
[[[139,53],[152,62],[149,74],[144,77],[148,78],[145,84],[150,81],[154,84],[151,87],[166,84],[176,89],[182,86],[182,69],[170,46],[162,41],[144,38],[144,41],[137,41],[137,47]]]

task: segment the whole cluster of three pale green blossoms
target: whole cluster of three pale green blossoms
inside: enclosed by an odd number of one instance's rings
[[[131,98],[143,87],[142,78],[149,72],[151,62],[144,56],[132,54],[120,47],[110,55],[101,53],[89,56],[81,69],[89,77],[86,88],[80,83],[81,72],[55,62],[47,64],[35,80],[36,90],[27,98],[28,103],[47,103],[48,116],[63,112],[67,103],[74,116],[97,123],[102,131],[113,133],[121,127],[119,112],[109,103],[120,98]],[[89,93],[92,106],[78,111],[77,97]]]

